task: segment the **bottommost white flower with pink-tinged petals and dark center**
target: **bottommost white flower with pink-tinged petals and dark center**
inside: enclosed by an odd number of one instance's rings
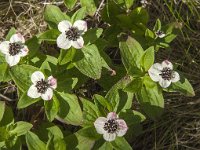
[[[96,131],[99,134],[103,134],[103,138],[106,141],[115,140],[116,136],[123,136],[126,134],[128,127],[123,119],[119,119],[115,112],[110,112],[105,117],[99,117],[94,122]]]

